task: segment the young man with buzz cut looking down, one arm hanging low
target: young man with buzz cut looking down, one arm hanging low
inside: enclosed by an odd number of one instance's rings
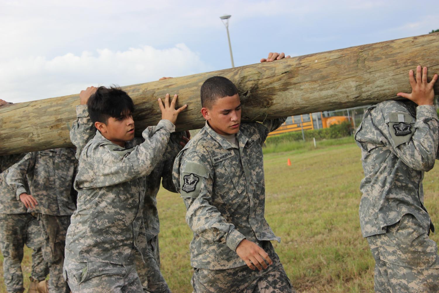
[[[241,125],[237,88],[221,76],[203,83],[201,101],[206,125],[173,170],[194,232],[194,292],[295,292],[270,242],[280,238],[264,217],[262,145],[285,118]]]

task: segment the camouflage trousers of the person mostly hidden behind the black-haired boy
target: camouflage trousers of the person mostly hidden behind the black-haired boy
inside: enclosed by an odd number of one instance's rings
[[[160,252],[158,250],[158,236],[148,241],[148,255],[145,263],[136,252],[136,270],[145,292],[170,293],[168,284],[160,272]]]

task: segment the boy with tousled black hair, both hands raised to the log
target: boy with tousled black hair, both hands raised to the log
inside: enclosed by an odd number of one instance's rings
[[[176,98],[169,102],[167,94],[164,105],[159,99],[162,120],[143,131],[143,142],[134,138],[133,101],[119,88],[99,87],[87,107],[77,108],[78,123],[90,113],[97,132],[85,146],[87,135],[76,127],[70,133],[82,149],[75,180],[78,208],[65,247],[72,292],[143,292],[134,257],[149,255],[144,177],[162,159],[173,123],[187,106],[176,110]]]

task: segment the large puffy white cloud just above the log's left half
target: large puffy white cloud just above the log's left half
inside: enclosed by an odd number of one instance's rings
[[[14,58],[0,63],[0,97],[14,103],[79,93],[90,85],[120,86],[212,70],[185,44],[166,49],[151,46],[126,51],[100,49],[79,56],[68,53]]]

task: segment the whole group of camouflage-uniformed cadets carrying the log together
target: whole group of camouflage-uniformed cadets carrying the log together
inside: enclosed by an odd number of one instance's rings
[[[439,291],[422,189],[438,152],[437,75],[428,83],[418,66],[409,80],[412,93],[398,94],[407,100],[368,108],[355,135],[365,174],[360,224],[376,262],[376,292]],[[285,119],[241,124],[237,88],[214,76],[201,87],[205,127],[189,140],[174,132],[187,107],[175,109],[176,99],[159,99],[162,120],[134,137],[131,98],[89,87],[70,132],[79,161],[70,148],[0,156],[8,292],[24,290],[24,244],[33,250],[29,292],[170,292],[160,272],[160,181],[187,208],[194,292],[295,292],[271,244],[280,238],[264,217],[262,145]]]

